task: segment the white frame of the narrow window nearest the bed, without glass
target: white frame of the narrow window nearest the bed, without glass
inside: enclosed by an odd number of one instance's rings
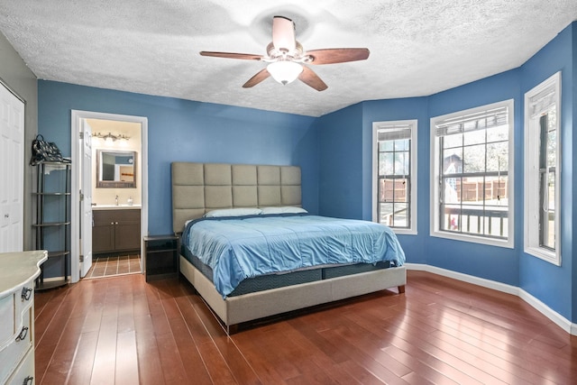
[[[407,125],[410,130],[409,146],[409,176],[410,188],[408,191],[409,226],[390,228],[395,234],[417,234],[417,119],[381,121],[372,123],[372,221],[379,221],[379,138],[380,130],[393,129],[394,127]]]

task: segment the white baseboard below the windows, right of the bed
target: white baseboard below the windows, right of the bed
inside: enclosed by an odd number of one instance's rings
[[[551,307],[546,306],[541,300],[533,297],[531,294],[527,293],[527,291],[525,291],[524,289],[517,288],[517,286],[511,286],[505,283],[496,282],[494,280],[485,280],[484,278],[475,277],[469,274],[463,274],[461,272],[456,272],[453,270],[437,268],[435,266],[429,266],[422,263],[405,263],[405,266],[407,267],[408,270],[427,271],[434,274],[442,275],[444,277],[452,278],[454,280],[463,280],[463,282],[472,283],[473,285],[478,285],[483,288],[494,289],[517,296],[518,298],[521,298],[525,302],[527,302],[527,304],[534,307],[539,313],[549,318],[556,325],[561,327],[565,332],[571,335],[577,335],[577,324],[573,324],[567,318],[554,311]]]

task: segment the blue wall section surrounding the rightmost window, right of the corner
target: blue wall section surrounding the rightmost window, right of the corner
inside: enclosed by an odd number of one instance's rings
[[[531,88],[549,78],[557,71],[561,74],[561,252],[562,265],[554,266],[520,250],[519,286],[531,293],[534,297],[545,302],[563,316],[577,320],[577,301],[571,295],[574,286],[577,285],[573,272],[572,256],[574,254],[572,243],[575,237],[573,229],[574,208],[573,191],[575,179],[572,170],[575,164],[573,151],[577,149],[573,139],[573,120],[575,114],[574,87],[575,84],[575,25],[572,23],[551,42],[549,42],[536,55],[527,60],[521,69],[521,92],[524,94]],[[572,284],[573,282],[573,284]],[[573,289],[570,289],[573,288]],[[574,309],[574,310],[572,310]]]

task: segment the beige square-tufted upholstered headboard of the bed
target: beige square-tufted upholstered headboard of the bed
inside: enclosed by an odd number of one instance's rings
[[[172,228],[217,208],[301,206],[300,168],[172,163]]]

